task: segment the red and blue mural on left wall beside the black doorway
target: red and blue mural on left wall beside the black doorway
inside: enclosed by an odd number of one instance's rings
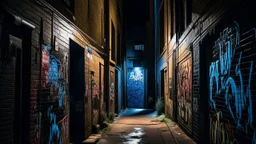
[[[50,51],[51,46],[42,46],[42,94],[35,115],[37,142],[62,144],[68,140],[67,69],[64,64],[67,56],[54,56]]]

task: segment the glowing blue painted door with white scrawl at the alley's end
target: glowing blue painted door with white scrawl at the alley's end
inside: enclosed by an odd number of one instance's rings
[[[134,68],[127,74],[127,102],[129,108],[144,107],[144,70]]]

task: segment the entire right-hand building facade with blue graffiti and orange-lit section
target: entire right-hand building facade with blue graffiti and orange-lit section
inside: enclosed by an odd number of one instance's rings
[[[251,2],[155,0],[156,95],[199,143],[255,143]]]

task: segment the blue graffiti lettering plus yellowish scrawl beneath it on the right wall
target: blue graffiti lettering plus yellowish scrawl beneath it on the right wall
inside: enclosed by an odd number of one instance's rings
[[[256,31],[253,29],[252,36],[256,40]],[[247,32],[246,34],[248,34]],[[242,34],[243,36],[246,34]],[[242,40],[244,41],[244,40]],[[241,42],[242,42],[241,41]],[[235,22],[234,26],[226,28],[216,40],[215,47],[218,49],[217,60],[209,67],[209,105],[213,111],[219,111],[215,99],[223,98],[229,116],[233,120],[237,131],[242,130],[246,134],[252,134],[252,143],[256,143],[255,128],[253,126],[253,100],[251,94],[251,80],[254,61],[248,61],[248,66],[243,68],[243,52],[236,52],[240,48],[240,30]],[[241,48],[240,48],[241,49]],[[243,65],[242,65],[243,64]],[[242,68],[241,68],[242,67]],[[222,97],[220,97],[222,96]],[[213,143],[234,143],[233,127],[220,122],[221,112],[216,114],[216,121],[211,117],[211,135]],[[225,118],[226,120],[226,118]],[[249,133],[250,131],[250,133]],[[230,139],[231,137],[231,139]],[[236,142],[237,143],[237,142]]]

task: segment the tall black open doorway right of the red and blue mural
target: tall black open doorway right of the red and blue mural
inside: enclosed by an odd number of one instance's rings
[[[84,48],[70,40],[70,141],[81,143],[84,140]]]

